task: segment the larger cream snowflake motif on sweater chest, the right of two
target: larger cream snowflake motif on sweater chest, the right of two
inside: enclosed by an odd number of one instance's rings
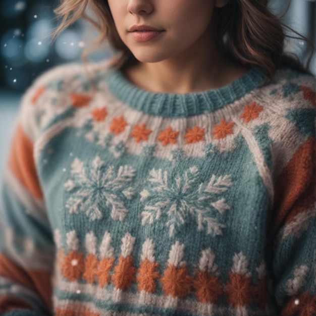
[[[141,201],[146,205],[142,212],[142,225],[152,225],[154,220],[167,217],[166,225],[173,236],[181,225],[192,218],[198,230],[207,234],[222,235],[225,225],[216,216],[223,214],[230,206],[221,193],[232,185],[229,175],[213,175],[208,182],[200,182],[201,174],[192,167],[179,177],[168,177],[162,169],[152,169],[148,179],[148,189],[144,189]]]

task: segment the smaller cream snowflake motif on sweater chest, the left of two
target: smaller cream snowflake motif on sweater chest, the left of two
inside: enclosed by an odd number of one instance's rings
[[[106,167],[96,156],[92,166],[84,168],[83,162],[76,158],[71,165],[72,179],[65,183],[65,188],[72,196],[66,207],[69,213],[83,212],[92,221],[100,220],[110,213],[113,220],[123,221],[127,208],[125,199],[131,199],[134,191],[131,181],[135,170],[130,166],[121,166],[118,172],[115,167]]]

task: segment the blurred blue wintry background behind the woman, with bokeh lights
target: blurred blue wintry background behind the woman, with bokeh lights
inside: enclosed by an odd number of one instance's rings
[[[8,154],[19,100],[33,80],[45,70],[69,62],[80,62],[82,49],[91,34],[90,26],[78,21],[61,33],[54,43],[49,34],[57,21],[52,0],[0,0],[0,176]],[[284,12],[286,0],[271,0],[271,10]],[[284,22],[316,42],[316,0],[292,0]],[[306,61],[309,51],[305,42],[289,40],[288,51]],[[105,47],[90,57],[92,61],[109,58]],[[316,57],[310,70],[316,75]]]

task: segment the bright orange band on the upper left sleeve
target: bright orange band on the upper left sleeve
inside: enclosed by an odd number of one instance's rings
[[[13,137],[9,168],[19,182],[35,197],[42,198],[33,158],[33,143],[18,126]]]

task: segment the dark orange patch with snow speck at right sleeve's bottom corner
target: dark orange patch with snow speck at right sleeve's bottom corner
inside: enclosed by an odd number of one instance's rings
[[[294,296],[281,312],[281,316],[288,315],[315,316],[316,296],[311,295],[309,292]]]

